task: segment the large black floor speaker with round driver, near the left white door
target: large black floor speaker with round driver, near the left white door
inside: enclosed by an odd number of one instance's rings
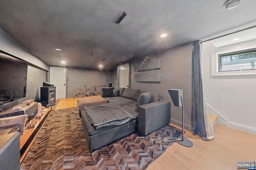
[[[56,87],[41,87],[40,93],[42,106],[54,106],[56,104]]]

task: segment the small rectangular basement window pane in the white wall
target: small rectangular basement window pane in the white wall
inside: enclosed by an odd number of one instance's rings
[[[219,72],[256,70],[256,49],[218,55]]]

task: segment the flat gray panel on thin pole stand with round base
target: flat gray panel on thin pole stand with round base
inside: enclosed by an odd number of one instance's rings
[[[193,147],[193,143],[184,137],[184,105],[183,105],[183,93],[182,89],[169,89],[168,90],[174,106],[182,106],[182,138],[181,140],[176,140],[177,143],[186,147]]]

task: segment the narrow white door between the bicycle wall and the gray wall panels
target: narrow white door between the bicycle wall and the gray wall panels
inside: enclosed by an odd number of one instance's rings
[[[129,63],[119,66],[119,86],[129,88]]]

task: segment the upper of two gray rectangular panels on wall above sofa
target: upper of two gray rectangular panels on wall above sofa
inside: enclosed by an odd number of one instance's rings
[[[138,62],[134,65],[134,71],[155,70],[161,68],[160,58]]]

